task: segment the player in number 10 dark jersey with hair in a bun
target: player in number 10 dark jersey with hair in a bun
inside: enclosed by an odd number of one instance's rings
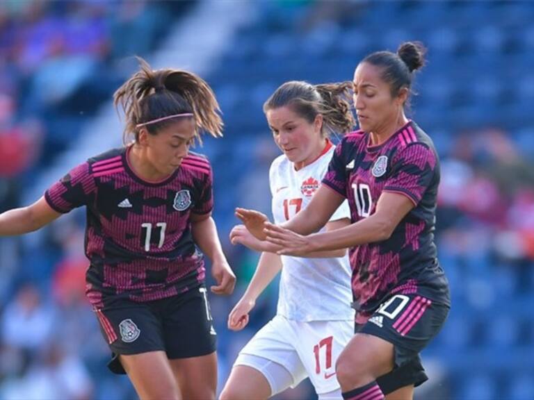
[[[432,140],[404,111],[423,53],[421,44],[406,42],[397,53],[371,53],[359,63],[353,89],[361,130],[337,146],[307,208],[282,226],[237,210],[249,231],[280,246],[280,254],[350,247],[359,333],[336,365],[345,399],[384,399],[377,378],[417,365],[450,308],[434,243],[439,161]],[[345,198],[353,223],[314,233]],[[399,374],[399,382],[405,387],[396,398],[411,399],[414,376]]]

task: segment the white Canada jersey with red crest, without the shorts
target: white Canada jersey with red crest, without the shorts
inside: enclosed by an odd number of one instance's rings
[[[321,185],[333,153],[334,146],[330,144],[330,148],[314,163],[298,171],[284,155],[273,161],[269,182],[276,224],[286,222],[308,205]],[[343,201],[330,221],[342,218],[350,218],[347,201]],[[282,265],[277,314],[303,322],[354,318],[354,310],[350,307],[353,294],[348,256],[282,256]]]

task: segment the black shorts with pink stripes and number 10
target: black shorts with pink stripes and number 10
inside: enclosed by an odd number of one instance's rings
[[[377,336],[394,345],[394,369],[377,379],[384,394],[428,380],[419,353],[442,328],[450,308],[419,294],[395,294],[380,305],[358,333]]]

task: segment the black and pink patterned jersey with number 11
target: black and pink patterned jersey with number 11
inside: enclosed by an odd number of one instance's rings
[[[209,161],[190,152],[163,181],[147,182],[133,172],[130,149],[90,158],[44,194],[59,213],[86,206],[86,293],[95,307],[118,296],[163,299],[204,281],[189,217],[213,208]]]

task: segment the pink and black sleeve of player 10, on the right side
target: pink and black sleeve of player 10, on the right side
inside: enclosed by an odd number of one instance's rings
[[[417,206],[435,176],[437,158],[426,144],[412,143],[394,159],[384,192],[405,194]]]

